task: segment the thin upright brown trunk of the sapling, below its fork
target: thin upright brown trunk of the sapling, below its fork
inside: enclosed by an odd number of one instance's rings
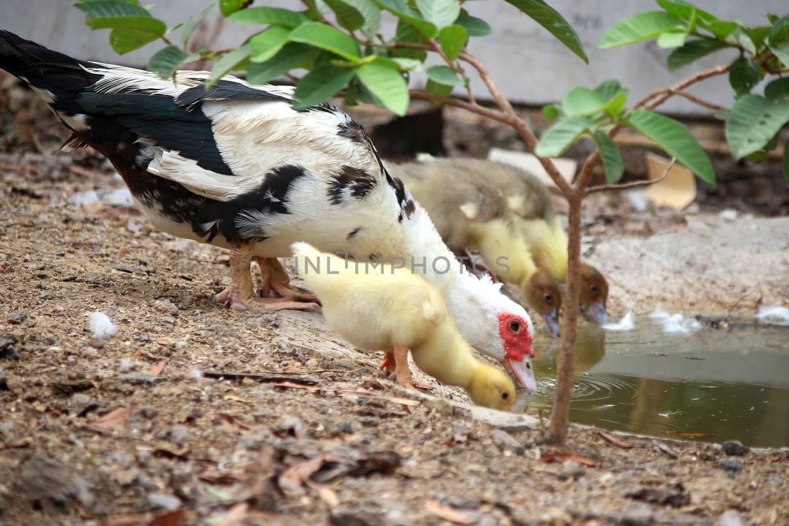
[[[581,200],[583,190],[576,189],[568,199],[570,212],[567,226],[567,300],[564,302],[562,326],[562,350],[559,353],[559,374],[556,395],[548,428],[552,442],[563,444],[567,439],[570,421],[570,397],[573,394],[575,373],[575,339],[578,334],[578,291],[581,282]]]

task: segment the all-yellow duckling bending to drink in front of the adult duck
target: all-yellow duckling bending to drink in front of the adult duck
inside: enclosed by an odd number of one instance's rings
[[[504,371],[475,360],[436,285],[392,264],[375,267],[292,245],[301,278],[323,304],[327,323],[352,345],[383,350],[383,367],[403,386],[417,387],[408,368],[460,386],[477,405],[510,409],[515,386]],[[530,366],[530,362],[529,362]]]

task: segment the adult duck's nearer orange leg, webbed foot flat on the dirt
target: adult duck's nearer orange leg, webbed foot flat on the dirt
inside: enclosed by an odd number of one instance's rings
[[[252,274],[249,270],[249,264],[252,263],[254,250],[254,243],[234,244],[230,250],[230,285],[214,297],[216,302],[239,311],[249,309],[263,311],[282,311],[285,309],[314,311],[318,307],[317,304],[294,301],[290,297],[252,297]]]

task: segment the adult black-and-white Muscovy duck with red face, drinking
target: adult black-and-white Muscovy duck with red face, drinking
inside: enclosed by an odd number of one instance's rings
[[[289,256],[296,241],[357,259],[402,258],[438,286],[475,349],[536,388],[529,316],[498,286],[451,263],[428,215],[342,111],[295,110],[294,88],[233,76],[206,91],[207,72],[165,80],[6,31],[0,68],[30,84],[73,131],[67,147],[90,145],[110,159],[152,225],[230,248],[230,286],[218,300],[234,308],[311,306],[274,259]],[[253,257],[284,297],[252,297]]]

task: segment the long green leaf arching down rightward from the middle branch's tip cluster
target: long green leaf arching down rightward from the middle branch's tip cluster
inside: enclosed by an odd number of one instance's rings
[[[632,110],[625,114],[623,124],[649,137],[688,170],[715,184],[715,170],[696,138],[684,126],[665,115],[649,110]]]

